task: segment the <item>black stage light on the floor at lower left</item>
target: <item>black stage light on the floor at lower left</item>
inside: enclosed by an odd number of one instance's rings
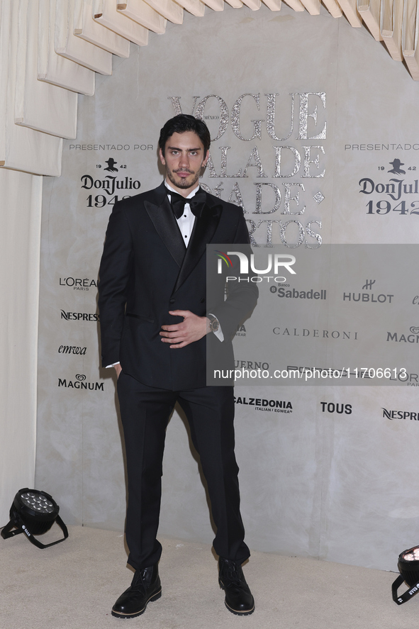
[[[19,489],[10,508],[10,522],[1,530],[1,537],[7,538],[25,533],[30,542],[38,548],[48,548],[68,538],[68,530],[65,523],[58,515],[60,507],[50,494],[38,489]],[[54,523],[60,526],[64,537],[50,544],[42,544],[34,538],[34,535],[43,535]],[[14,530],[12,530],[14,529]]]

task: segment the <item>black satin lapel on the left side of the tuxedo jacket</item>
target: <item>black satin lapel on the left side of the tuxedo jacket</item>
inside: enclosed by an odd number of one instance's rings
[[[159,196],[159,205],[151,203],[151,201],[144,201],[144,207],[174,262],[178,267],[181,267],[186,252],[185,243],[182,240],[167,194],[163,191],[163,195]]]

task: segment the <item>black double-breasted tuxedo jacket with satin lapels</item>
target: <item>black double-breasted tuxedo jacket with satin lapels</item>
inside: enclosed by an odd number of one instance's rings
[[[246,282],[230,286],[224,301],[221,282],[207,303],[208,243],[249,243],[242,208],[206,194],[186,248],[164,184],[115,204],[99,270],[104,367],[119,361],[125,373],[160,389],[206,386],[206,337],[181,349],[161,341],[162,325],[182,321],[169,315],[173,310],[213,313],[225,340],[207,335],[208,346],[223,354],[223,364],[233,357],[231,338],[254,308],[257,287]]]

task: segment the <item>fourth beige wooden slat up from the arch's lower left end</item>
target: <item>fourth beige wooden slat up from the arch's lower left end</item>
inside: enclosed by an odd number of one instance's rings
[[[111,52],[80,39],[73,33],[74,0],[55,5],[55,52],[100,74],[112,74]]]

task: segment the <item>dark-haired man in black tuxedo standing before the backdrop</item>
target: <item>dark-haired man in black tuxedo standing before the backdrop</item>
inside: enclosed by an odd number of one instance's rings
[[[160,132],[164,182],[115,204],[99,271],[104,367],[115,367],[128,472],[126,540],[133,582],[113,616],[139,616],[161,596],[157,564],[164,436],[179,402],[201,457],[216,523],[214,549],[225,604],[239,615],[255,608],[241,564],[243,540],[234,455],[232,386],[206,386],[206,345],[231,351],[238,323],[252,311],[255,284],[230,286],[206,303],[206,245],[245,244],[242,209],[199,188],[210,135],[181,114]]]

